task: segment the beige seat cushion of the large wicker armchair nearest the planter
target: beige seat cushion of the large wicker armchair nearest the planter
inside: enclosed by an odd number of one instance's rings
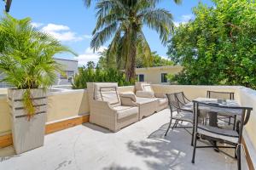
[[[113,110],[117,111],[117,118],[122,119],[127,116],[137,115],[138,114],[138,108],[137,107],[131,107],[131,106],[123,106],[119,105],[116,107],[113,107]]]

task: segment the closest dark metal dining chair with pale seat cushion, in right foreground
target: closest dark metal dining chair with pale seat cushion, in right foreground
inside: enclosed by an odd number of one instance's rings
[[[238,169],[241,169],[241,136],[242,130],[244,125],[247,124],[250,112],[253,110],[252,108],[248,107],[230,107],[230,106],[223,106],[223,105],[214,105],[214,104],[206,104],[201,103],[198,101],[193,101],[193,110],[195,114],[195,126],[194,126],[194,150],[192,156],[192,163],[195,163],[195,150],[196,148],[233,148],[236,150],[237,158],[237,166]],[[200,111],[213,111],[216,114],[218,112],[225,112],[230,115],[238,115],[241,116],[241,121],[236,122],[236,130],[229,129],[226,127],[210,127],[204,124],[199,124],[198,122],[198,114]],[[217,146],[217,145],[207,145],[207,146],[197,146],[196,142],[198,139],[207,139],[207,140],[214,140],[220,141],[227,145]],[[219,150],[222,151],[222,150]],[[222,151],[224,152],[224,151]],[[225,153],[226,155],[229,155]]]

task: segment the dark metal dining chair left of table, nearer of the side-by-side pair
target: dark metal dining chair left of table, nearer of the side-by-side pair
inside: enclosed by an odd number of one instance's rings
[[[169,122],[169,126],[166,130],[165,136],[167,135],[170,127],[175,128],[177,127],[178,122],[189,122],[193,123],[193,113],[192,111],[183,109],[182,106],[185,105],[185,98],[183,92],[181,93],[174,93],[174,94],[166,94],[168,103],[170,106],[171,111],[171,119]],[[184,97],[184,98],[183,98]],[[173,115],[173,112],[177,111],[176,115]],[[172,120],[175,120],[174,125],[172,126]],[[191,126],[190,126],[191,127]],[[183,127],[186,128],[186,127]]]

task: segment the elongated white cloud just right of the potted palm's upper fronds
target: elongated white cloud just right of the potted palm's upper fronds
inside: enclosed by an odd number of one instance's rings
[[[63,25],[48,24],[42,28],[42,31],[62,42],[78,42],[85,38],[78,36],[77,33],[71,31],[68,26]]]

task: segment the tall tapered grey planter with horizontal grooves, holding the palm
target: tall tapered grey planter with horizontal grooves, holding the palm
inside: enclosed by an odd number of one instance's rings
[[[30,121],[28,121],[22,99],[25,91],[25,89],[15,88],[8,90],[12,135],[17,154],[44,145],[47,110],[46,93],[40,88],[31,89],[33,105],[36,112]]]

